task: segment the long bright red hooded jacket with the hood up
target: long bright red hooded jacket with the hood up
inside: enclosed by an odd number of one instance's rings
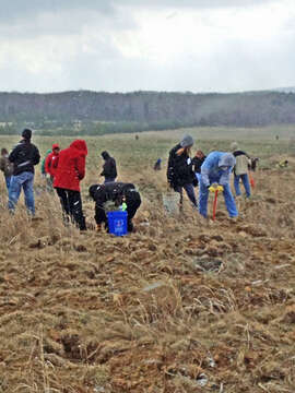
[[[54,187],[80,191],[80,181],[85,176],[86,142],[76,140],[59,153]]]

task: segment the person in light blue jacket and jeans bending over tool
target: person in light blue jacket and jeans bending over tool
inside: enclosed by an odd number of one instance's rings
[[[201,166],[199,192],[199,212],[206,217],[209,189],[213,183],[223,191],[225,205],[229,217],[237,217],[238,211],[231,191],[229,179],[236,159],[232,153],[212,152]]]

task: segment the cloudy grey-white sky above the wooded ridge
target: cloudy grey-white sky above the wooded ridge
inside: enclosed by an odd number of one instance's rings
[[[294,0],[0,0],[0,91],[295,85]]]

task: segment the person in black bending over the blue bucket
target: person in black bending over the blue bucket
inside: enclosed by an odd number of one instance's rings
[[[104,184],[93,184],[90,187],[90,195],[95,201],[95,222],[97,229],[102,224],[108,229],[107,216],[105,212],[105,204],[108,201],[115,202],[116,206],[122,203],[127,205],[128,214],[128,231],[133,230],[132,218],[137,210],[141,205],[140,193],[135,190],[134,184],[123,182],[108,182]]]

